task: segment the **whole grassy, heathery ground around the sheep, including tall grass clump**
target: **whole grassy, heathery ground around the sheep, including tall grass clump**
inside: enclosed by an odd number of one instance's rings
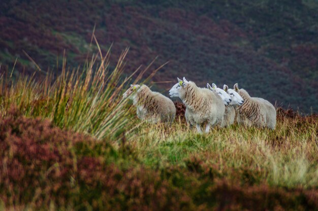
[[[173,124],[150,125],[121,94],[153,68],[126,75],[127,53],[112,71],[100,51],[83,71],[0,76],[0,209],[318,209],[317,115],[201,135],[176,102]]]

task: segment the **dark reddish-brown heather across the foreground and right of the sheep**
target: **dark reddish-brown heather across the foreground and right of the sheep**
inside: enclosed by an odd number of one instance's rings
[[[310,122],[292,111],[278,120]],[[274,137],[273,137],[274,138]],[[276,142],[277,140],[273,140]],[[194,155],[186,168],[145,166],[124,137],[109,140],[61,130],[11,109],[0,119],[0,208],[118,210],[309,210],[316,189],[271,187],[251,169],[229,181]],[[243,177],[244,176],[244,177]],[[249,181],[244,183],[242,181]]]

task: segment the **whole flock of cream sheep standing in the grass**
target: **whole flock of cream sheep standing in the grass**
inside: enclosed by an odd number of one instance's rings
[[[178,78],[169,91],[170,97],[179,97],[186,106],[185,119],[187,124],[196,126],[199,133],[205,126],[209,132],[211,126],[226,127],[234,123],[246,126],[268,127],[275,129],[276,110],[267,100],[251,97],[238,84],[234,89],[224,85],[223,89],[212,87],[200,88],[194,82]],[[131,85],[123,97],[129,97],[137,107],[137,116],[150,122],[171,122],[175,118],[176,108],[168,97],[151,91],[146,85]]]

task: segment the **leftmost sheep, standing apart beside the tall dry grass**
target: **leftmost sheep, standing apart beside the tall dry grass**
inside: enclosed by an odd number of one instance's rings
[[[151,91],[146,85],[132,84],[122,96],[123,98],[129,96],[133,100],[133,104],[137,107],[137,116],[141,120],[152,123],[174,120],[176,108],[172,100],[161,93]]]

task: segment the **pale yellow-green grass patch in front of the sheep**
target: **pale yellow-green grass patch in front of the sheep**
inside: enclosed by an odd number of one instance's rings
[[[145,125],[132,137],[130,146],[145,164],[186,167],[192,157],[214,169],[220,178],[239,182],[268,183],[288,188],[317,188],[318,124],[278,121],[274,131],[232,125],[200,135],[185,124]],[[135,137],[134,137],[135,136]],[[248,170],[251,178],[242,174]],[[251,180],[251,181],[249,181]]]

